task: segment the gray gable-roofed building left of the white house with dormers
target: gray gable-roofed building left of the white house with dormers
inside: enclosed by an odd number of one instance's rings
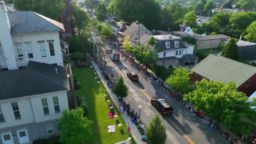
[[[145,37],[149,38],[152,33],[147,29],[147,27],[145,27],[143,24],[139,24],[139,22],[136,21],[133,22],[127,29],[125,29],[122,35],[123,38],[129,36],[133,45],[139,45],[139,43],[144,45],[143,43],[145,43],[145,41],[141,42],[141,40],[144,40]],[[143,38],[141,39],[141,37]]]

